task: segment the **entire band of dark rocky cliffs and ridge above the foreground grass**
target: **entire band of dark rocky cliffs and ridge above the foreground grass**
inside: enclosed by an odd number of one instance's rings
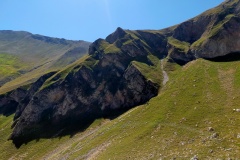
[[[171,28],[118,28],[106,39],[96,40],[87,57],[45,75],[21,97],[15,96],[21,103],[11,101],[14,92],[4,97],[11,104],[5,107],[18,106],[10,139],[21,145],[146,103],[161,87],[162,58],[183,65],[196,58],[239,54],[239,6],[239,1],[230,0]]]

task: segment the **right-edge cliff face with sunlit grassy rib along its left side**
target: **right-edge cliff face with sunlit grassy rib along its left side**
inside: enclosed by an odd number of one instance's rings
[[[239,1],[228,1],[219,6],[208,30],[191,45],[196,57],[214,58],[240,51]]]

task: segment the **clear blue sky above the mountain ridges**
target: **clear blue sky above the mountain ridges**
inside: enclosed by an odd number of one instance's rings
[[[94,41],[117,27],[162,29],[224,0],[0,0],[0,30]]]

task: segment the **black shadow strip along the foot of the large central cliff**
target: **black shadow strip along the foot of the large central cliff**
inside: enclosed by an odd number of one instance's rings
[[[43,122],[41,126],[29,128],[28,132],[21,134],[21,136],[19,137],[14,137],[13,139],[10,137],[10,139],[12,139],[15,147],[19,149],[23,144],[28,144],[33,140],[36,140],[36,142],[38,142],[40,139],[61,139],[64,136],[69,136],[70,138],[72,138],[75,134],[85,131],[96,119],[104,118],[113,120],[129,109],[130,108],[121,110],[109,110],[105,111],[101,115],[99,113],[89,113],[79,116],[81,117],[79,119],[62,119],[56,124],[52,124],[50,122]]]

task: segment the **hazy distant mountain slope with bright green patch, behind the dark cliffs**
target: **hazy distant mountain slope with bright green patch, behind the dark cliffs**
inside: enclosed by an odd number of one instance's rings
[[[89,45],[22,31],[0,31],[0,86],[25,73],[42,75],[64,67],[86,54]]]

